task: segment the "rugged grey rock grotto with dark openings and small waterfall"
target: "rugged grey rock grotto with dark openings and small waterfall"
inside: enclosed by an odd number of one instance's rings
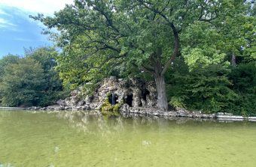
[[[70,93],[65,100],[44,109],[100,109],[104,100],[119,103],[123,109],[154,108],[157,106],[157,90],[154,82],[142,82],[138,79],[117,79],[111,76],[104,79],[92,96],[85,96],[81,90]]]

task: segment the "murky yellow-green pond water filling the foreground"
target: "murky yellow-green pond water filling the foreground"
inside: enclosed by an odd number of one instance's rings
[[[256,166],[256,122],[0,111],[0,167]]]

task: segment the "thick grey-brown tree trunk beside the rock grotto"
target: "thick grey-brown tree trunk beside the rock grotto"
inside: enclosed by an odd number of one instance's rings
[[[155,75],[155,82],[157,85],[157,106],[160,109],[167,111],[168,103],[166,97],[166,83],[163,75]]]

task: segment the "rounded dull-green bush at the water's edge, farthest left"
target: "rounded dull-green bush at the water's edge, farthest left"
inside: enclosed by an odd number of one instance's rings
[[[3,106],[35,105],[42,94],[43,69],[32,58],[21,58],[8,64],[0,90]]]

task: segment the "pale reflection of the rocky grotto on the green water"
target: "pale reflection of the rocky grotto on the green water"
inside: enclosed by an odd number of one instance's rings
[[[133,133],[139,133],[139,130],[163,132],[174,124],[197,124],[197,122],[203,121],[202,119],[160,118],[136,114],[102,115],[101,112],[93,110],[58,112],[56,116],[69,121],[69,126],[79,132],[101,136],[102,139],[108,139],[107,136],[114,133],[125,133],[126,130],[132,130]]]

